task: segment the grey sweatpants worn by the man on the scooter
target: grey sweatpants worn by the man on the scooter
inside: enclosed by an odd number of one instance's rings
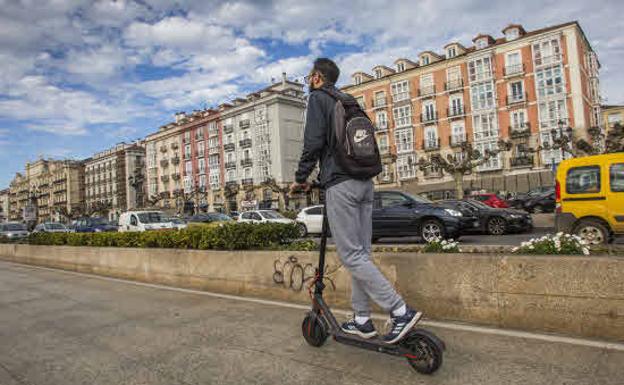
[[[355,314],[370,316],[369,298],[387,312],[403,306],[403,299],[371,261],[373,182],[349,179],[328,188],[325,198],[338,255],[351,272]]]

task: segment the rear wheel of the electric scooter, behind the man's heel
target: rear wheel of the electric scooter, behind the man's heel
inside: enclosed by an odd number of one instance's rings
[[[407,362],[421,374],[433,374],[442,365],[444,343],[433,333],[422,329],[411,331],[401,342],[411,352]]]

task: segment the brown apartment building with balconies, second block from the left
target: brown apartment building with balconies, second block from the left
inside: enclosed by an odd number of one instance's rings
[[[144,205],[145,148],[120,143],[85,160],[87,214],[109,220]]]

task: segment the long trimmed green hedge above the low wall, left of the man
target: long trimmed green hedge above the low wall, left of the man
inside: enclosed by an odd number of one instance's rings
[[[33,233],[26,240],[32,245],[142,247],[199,250],[314,250],[311,241],[295,241],[294,224],[224,223],[195,225],[183,230],[124,233]],[[1,240],[0,242],[6,242]]]

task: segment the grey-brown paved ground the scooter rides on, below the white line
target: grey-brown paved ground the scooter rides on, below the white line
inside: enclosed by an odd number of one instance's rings
[[[434,376],[300,335],[303,310],[0,262],[0,384],[621,384],[624,348],[430,328]]]

